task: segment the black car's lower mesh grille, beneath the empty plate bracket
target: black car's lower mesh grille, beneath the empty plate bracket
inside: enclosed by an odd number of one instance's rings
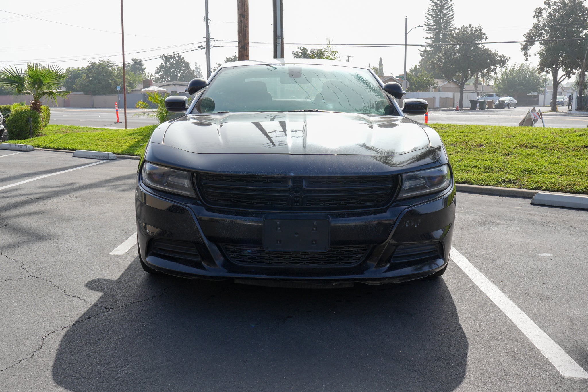
[[[220,244],[233,263],[248,266],[353,266],[365,259],[369,245],[332,246],[327,252],[266,252],[261,246]]]

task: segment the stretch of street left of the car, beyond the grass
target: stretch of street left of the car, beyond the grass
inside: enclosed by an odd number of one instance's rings
[[[127,128],[138,128],[146,125],[156,125],[157,121],[150,117],[135,116],[136,113],[146,113],[148,110],[127,109]],[[51,124],[95,126],[105,128],[125,128],[123,110],[118,111],[121,124],[115,124],[114,109],[88,108],[51,108]]]

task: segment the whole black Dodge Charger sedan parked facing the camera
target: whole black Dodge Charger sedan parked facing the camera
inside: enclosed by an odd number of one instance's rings
[[[455,184],[422,115],[368,68],[274,59],[193,79],[139,163],[146,272],[269,286],[441,276]]]

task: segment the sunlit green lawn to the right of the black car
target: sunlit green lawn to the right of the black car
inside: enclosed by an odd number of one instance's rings
[[[588,193],[588,130],[431,124],[457,183]]]

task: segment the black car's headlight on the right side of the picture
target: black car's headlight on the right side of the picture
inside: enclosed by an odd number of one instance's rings
[[[406,199],[407,197],[439,192],[449,186],[450,183],[451,173],[448,165],[405,173],[402,175],[402,187],[396,199]]]

